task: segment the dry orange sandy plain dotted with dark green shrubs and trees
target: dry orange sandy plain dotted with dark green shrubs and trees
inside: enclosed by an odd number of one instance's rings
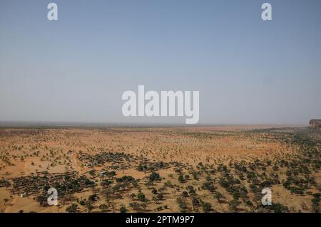
[[[0,211],[319,212],[320,152],[302,127],[2,127]]]

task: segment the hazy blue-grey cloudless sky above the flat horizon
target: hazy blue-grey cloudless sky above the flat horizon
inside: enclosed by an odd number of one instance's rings
[[[0,1],[0,121],[184,124],[124,117],[138,85],[199,91],[199,124],[307,125],[321,118],[321,1]]]

